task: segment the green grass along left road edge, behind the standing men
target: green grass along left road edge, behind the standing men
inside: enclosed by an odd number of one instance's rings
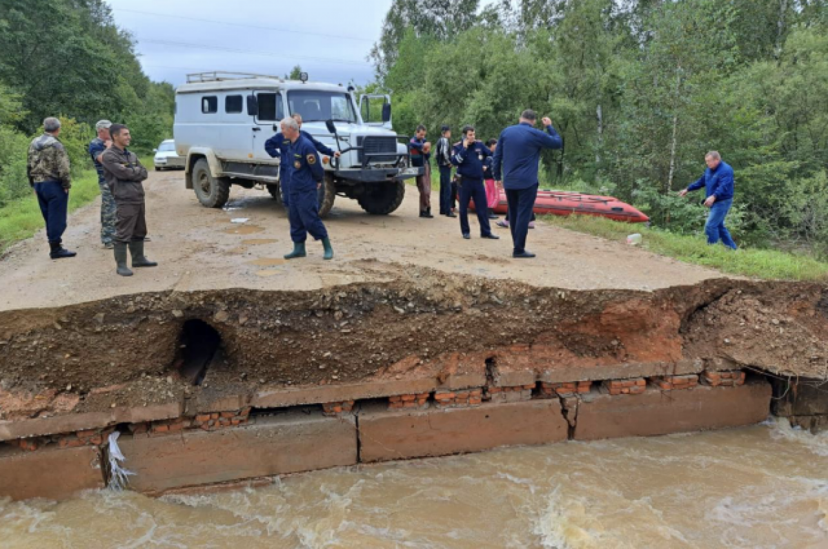
[[[152,156],[142,156],[141,163],[149,170],[155,167],[152,163]],[[72,181],[72,189],[69,193],[69,212],[74,212],[92,202],[99,194],[98,174],[94,169],[84,171],[83,175]],[[37,205],[34,192],[0,208],[0,255],[9,246],[30,238],[43,227],[41,208]]]

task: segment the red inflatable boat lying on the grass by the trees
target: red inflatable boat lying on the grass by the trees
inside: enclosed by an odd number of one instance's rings
[[[494,208],[494,211],[506,213],[507,210],[506,193],[500,191],[500,202]],[[579,213],[580,215],[607,217],[615,221],[628,223],[646,223],[650,221],[649,217],[628,203],[621,202],[618,198],[544,189],[537,191],[534,211],[536,215],[568,216]]]

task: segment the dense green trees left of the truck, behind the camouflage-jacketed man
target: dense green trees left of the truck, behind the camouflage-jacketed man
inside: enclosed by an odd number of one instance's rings
[[[171,137],[174,101],[103,0],[0,0],[0,207],[29,193],[26,150],[45,117],[61,118],[79,171],[91,167],[95,122],[125,122],[133,147],[149,150]]]

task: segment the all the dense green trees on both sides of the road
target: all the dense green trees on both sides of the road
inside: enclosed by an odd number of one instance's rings
[[[402,134],[496,137],[532,107],[565,140],[542,187],[613,193],[672,232],[700,231],[700,197],[676,191],[719,150],[741,243],[828,255],[828,0],[394,0],[369,58]],[[0,0],[0,207],[28,193],[44,117],[84,169],[95,121],[147,150],[173,104],[103,0]]]

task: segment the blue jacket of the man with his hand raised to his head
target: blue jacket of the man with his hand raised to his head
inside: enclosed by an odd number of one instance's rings
[[[503,181],[503,189],[529,189],[537,185],[541,150],[562,146],[561,136],[551,126],[546,127],[546,133],[526,122],[510,126],[500,133],[498,148],[494,150],[494,179]]]

